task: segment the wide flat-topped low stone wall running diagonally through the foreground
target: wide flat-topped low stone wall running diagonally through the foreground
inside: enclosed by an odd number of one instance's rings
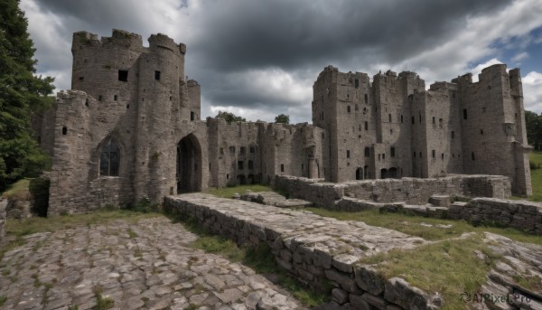
[[[222,199],[203,193],[169,196],[164,209],[193,217],[213,233],[238,244],[268,245],[278,264],[315,288],[332,283],[333,300],[354,309],[437,309],[440,296],[388,280],[360,258],[389,249],[414,249],[426,243],[396,230],[359,221],[337,221],[313,213]],[[348,308],[348,307],[347,307]]]

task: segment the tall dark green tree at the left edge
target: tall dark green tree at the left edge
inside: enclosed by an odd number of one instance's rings
[[[19,0],[0,0],[0,191],[42,173],[49,162],[30,129],[34,111],[51,107],[53,79],[34,76],[35,49]]]

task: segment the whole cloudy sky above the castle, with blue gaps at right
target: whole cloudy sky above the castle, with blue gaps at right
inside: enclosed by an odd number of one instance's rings
[[[70,89],[71,35],[123,29],[187,44],[202,117],[280,113],[311,122],[312,87],[341,71],[416,71],[426,85],[493,63],[521,68],[525,105],[542,112],[541,0],[21,0],[38,72]],[[145,41],[145,40],[144,40]],[[146,44],[146,42],[145,42]]]

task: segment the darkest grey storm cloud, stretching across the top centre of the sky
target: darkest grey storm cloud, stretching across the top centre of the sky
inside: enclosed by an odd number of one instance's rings
[[[294,68],[352,57],[394,63],[445,42],[506,0],[204,1],[192,48],[218,70]]]

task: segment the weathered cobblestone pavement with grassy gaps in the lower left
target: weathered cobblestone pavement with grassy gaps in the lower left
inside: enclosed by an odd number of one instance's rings
[[[2,308],[92,309],[101,287],[113,309],[304,309],[252,269],[190,248],[196,238],[164,217],[27,236],[0,262]]]

